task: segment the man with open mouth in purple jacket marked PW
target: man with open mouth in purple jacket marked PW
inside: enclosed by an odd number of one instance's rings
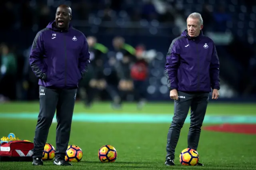
[[[34,137],[33,165],[43,165],[42,153],[56,111],[56,152],[54,164],[72,165],[64,160],[68,148],[78,82],[90,63],[84,34],[70,25],[72,11],[60,5],[55,21],[36,34],[29,62],[39,78],[40,111]]]

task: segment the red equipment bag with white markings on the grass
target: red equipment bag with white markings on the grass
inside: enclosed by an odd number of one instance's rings
[[[0,161],[32,161],[34,143],[23,140],[3,142],[0,146]]]

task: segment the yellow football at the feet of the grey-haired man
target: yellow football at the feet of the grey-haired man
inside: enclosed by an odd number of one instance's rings
[[[198,163],[199,155],[196,150],[191,148],[186,148],[180,153],[180,163],[182,165],[192,165],[195,166]]]

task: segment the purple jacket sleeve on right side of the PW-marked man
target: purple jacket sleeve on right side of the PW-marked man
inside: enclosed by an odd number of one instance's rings
[[[86,37],[84,36],[84,44],[82,47],[82,51],[80,53],[80,58],[78,63],[78,68],[82,77],[84,77],[84,73],[87,72],[89,63],[90,63],[90,52],[89,52],[88,42],[86,40]]]

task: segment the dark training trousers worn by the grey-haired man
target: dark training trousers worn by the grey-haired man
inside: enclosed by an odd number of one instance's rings
[[[197,149],[201,127],[209,101],[209,93],[178,91],[178,96],[178,101],[174,101],[174,117],[172,118],[172,123],[167,135],[166,158],[171,159],[174,159],[174,152],[180,137],[180,130],[188,115],[189,108],[191,113],[190,128],[188,132],[188,148],[194,150]]]

